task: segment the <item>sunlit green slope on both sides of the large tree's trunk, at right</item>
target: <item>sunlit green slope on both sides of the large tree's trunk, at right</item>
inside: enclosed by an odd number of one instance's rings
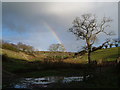
[[[119,56],[120,47],[114,47],[92,52],[91,59],[96,61],[115,61]],[[83,56],[78,56],[77,58],[67,59],[65,62],[86,63],[87,61],[87,54],[85,54]]]

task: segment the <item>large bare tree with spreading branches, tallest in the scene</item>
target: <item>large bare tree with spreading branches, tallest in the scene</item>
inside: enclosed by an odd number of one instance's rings
[[[96,16],[92,14],[83,14],[81,18],[77,17],[73,21],[73,26],[69,31],[77,37],[77,40],[85,40],[88,52],[88,63],[91,62],[92,45],[94,44],[98,34],[113,34],[112,32],[106,32],[106,28],[110,27],[107,23],[111,21],[112,20],[110,18],[103,17],[100,22],[97,22]]]

